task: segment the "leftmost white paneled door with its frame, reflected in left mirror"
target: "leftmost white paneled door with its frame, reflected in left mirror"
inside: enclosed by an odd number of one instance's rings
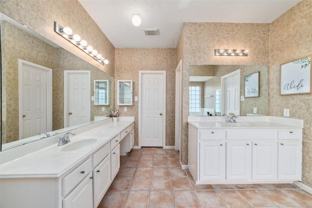
[[[19,59],[20,139],[52,131],[52,70]]]

